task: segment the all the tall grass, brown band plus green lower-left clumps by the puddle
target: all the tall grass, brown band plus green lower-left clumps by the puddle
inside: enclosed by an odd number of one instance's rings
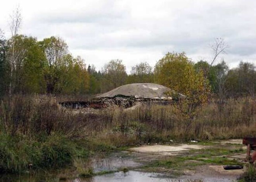
[[[0,102],[0,172],[30,163],[62,166],[112,147],[256,136],[256,101],[251,97],[227,99],[221,109],[210,100],[192,120],[175,104],[88,112],[63,108],[45,95],[15,95]]]

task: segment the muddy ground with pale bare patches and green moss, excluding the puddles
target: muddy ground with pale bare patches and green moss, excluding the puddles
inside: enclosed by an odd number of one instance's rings
[[[210,143],[146,145],[128,149],[147,167],[145,172],[178,173],[179,179],[213,179],[235,181],[244,169],[225,170],[225,165],[244,165],[246,150],[241,139]],[[216,180],[214,180],[216,179]]]

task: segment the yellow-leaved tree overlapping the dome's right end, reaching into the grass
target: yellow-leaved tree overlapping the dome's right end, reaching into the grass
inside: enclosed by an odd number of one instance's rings
[[[178,114],[183,116],[186,126],[184,133],[189,133],[196,110],[207,102],[210,92],[203,71],[195,70],[185,53],[167,53],[157,62],[155,75],[157,83],[175,90],[167,94],[179,99],[174,106],[180,111]]]

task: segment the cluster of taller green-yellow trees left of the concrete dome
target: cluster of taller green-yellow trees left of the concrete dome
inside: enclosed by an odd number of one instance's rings
[[[89,75],[84,61],[68,52],[58,37],[37,41],[18,35],[0,41],[2,94],[74,94],[88,90]]]

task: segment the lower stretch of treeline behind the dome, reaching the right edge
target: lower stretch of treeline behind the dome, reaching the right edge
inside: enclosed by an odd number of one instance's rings
[[[256,89],[254,64],[241,61],[229,69],[224,60],[214,66],[204,60],[193,63],[185,53],[167,53],[154,67],[147,62],[138,63],[132,66],[130,74],[122,60],[111,60],[100,71],[88,65],[87,72],[88,94],[107,92],[128,83],[159,83],[182,94],[204,83],[212,94],[222,98],[254,96]]]

